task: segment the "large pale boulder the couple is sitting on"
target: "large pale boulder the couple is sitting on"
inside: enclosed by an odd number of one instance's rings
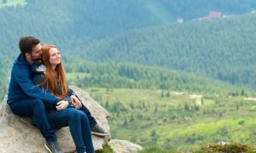
[[[78,94],[83,104],[90,110],[99,125],[110,131],[108,111],[91,99],[89,94],[77,87],[70,87]],[[48,152],[44,148],[44,138],[37,127],[33,127],[26,118],[15,116],[6,103],[6,97],[0,103],[0,148],[1,152]],[[25,119],[25,120],[24,120]],[[73,139],[68,127],[56,131],[61,149],[65,152],[75,150]],[[92,136],[96,150],[107,144],[109,137]]]

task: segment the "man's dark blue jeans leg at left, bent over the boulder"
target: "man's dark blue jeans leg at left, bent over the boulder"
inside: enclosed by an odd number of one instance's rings
[[[57,140],[55,131],[49,125],[44,102],[41,99],[19,99],[15,103],[11,103],[10,109],[18,116],[32,117],[32,123],[39,128],[44,139],[47,142],[55,142]]]

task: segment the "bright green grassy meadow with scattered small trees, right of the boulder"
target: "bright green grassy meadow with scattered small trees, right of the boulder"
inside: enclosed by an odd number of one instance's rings
[[[130,140],[146,150],[153,146],[163,151],[197,150],[222,141],[256,144],[256,112],[251,111],[256,102],[244,97],[193,94],[193,98],[189,93],[157,89],[85,91],[110,113],[113,138]]]

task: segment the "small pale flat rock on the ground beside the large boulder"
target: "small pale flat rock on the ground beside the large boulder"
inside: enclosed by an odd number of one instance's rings
[[[142,146],[138,144],[132,144],[126,140],[111,139],[108,144],[116,153],[131,153],[143,150]]]

